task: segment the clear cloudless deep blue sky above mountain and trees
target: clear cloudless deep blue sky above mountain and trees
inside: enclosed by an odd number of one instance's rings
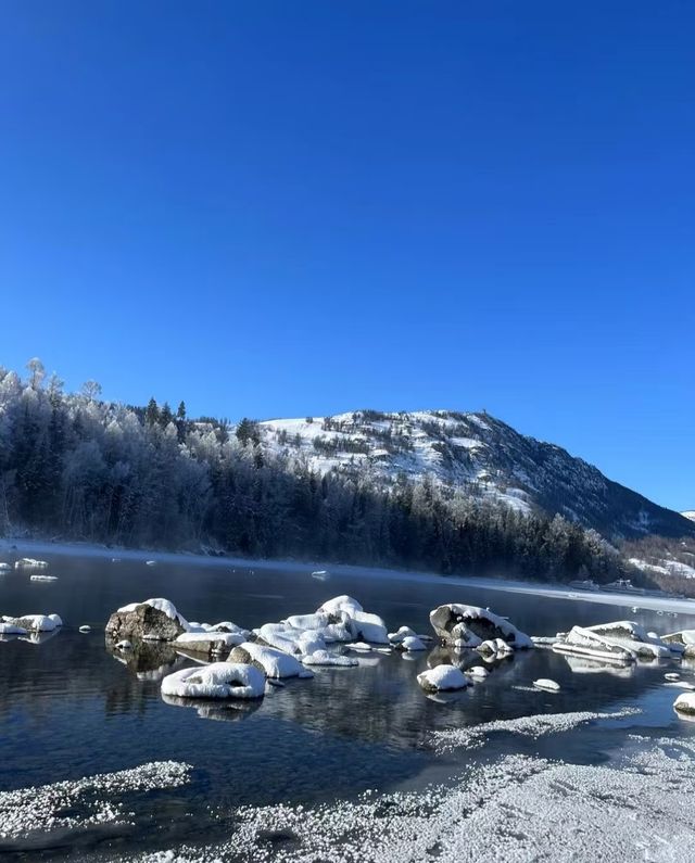
[[[695,507],[695,4],[0,3],[0,363],[480,409]]]

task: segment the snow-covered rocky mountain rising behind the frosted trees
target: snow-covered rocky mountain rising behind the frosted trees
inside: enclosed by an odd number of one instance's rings
[[[554,444],[490,415],[451,410],[275,419],[257,424],[261,446],[315,471],[432,480],[521,511],[559,512],[606,536],[695,535],[682,515],[647,500]]]

